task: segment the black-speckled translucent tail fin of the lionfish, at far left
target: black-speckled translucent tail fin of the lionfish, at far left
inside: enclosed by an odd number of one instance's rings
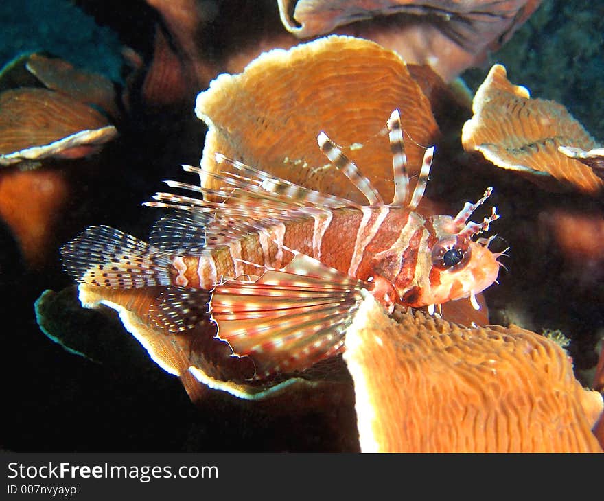
[[[131,289],[170,285],[170,256],[110,226],[89,226],[61,248],[63,264],[80,283]]]

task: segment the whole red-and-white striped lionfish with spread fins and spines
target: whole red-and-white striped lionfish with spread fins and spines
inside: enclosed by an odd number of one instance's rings
[[[394,197],[386,204],[358,167],[324,132],[317,141],[330,163],[367,198],[360,205],[290,183],[216,155],[230,170],[213,173],[217,189],[177,181],[169,187],[202,198],[157,193],[152,207],[178,209],[161,218],[150,243],[108,226],[91,226],[62,247],[67,270],[101,288],[165,286],[148,316],[182,333],[200,322],[232,356],[253,361],[251,380],[305,371],[344,349],[347,326],[366,294],[386,310],[470,297],[498,276],[502,253],[491,239],[472,240],[499,216],[469,222],[478,202],[455,216],[417,213],[434,148],[428,148],[413,192],[398,110],[388,120]]]

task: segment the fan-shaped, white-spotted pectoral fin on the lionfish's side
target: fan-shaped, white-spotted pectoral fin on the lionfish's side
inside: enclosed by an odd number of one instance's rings
[[[233,354],[249,356],[256,377],[303,371],[342,350],[345,329],[368,283],[297,254],[254,281],[220,283],[211,316]]]

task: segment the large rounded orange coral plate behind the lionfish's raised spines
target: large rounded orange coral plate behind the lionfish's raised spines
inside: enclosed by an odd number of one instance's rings
[[[401,110],[411,173],[439,136],[430,103],[405,63],[368,40],[330,36],[275,49],[240,75],[220,75],[197,97],[208,125],[202,167],[220,152],[324,193],[363,201],[316,146],[321,130],[353,156],[385,200],[393,196],[392,155],[384,124]],[[236,113],[233,113],[236,110]],[[202,179],[213,186],[215,181]]]

